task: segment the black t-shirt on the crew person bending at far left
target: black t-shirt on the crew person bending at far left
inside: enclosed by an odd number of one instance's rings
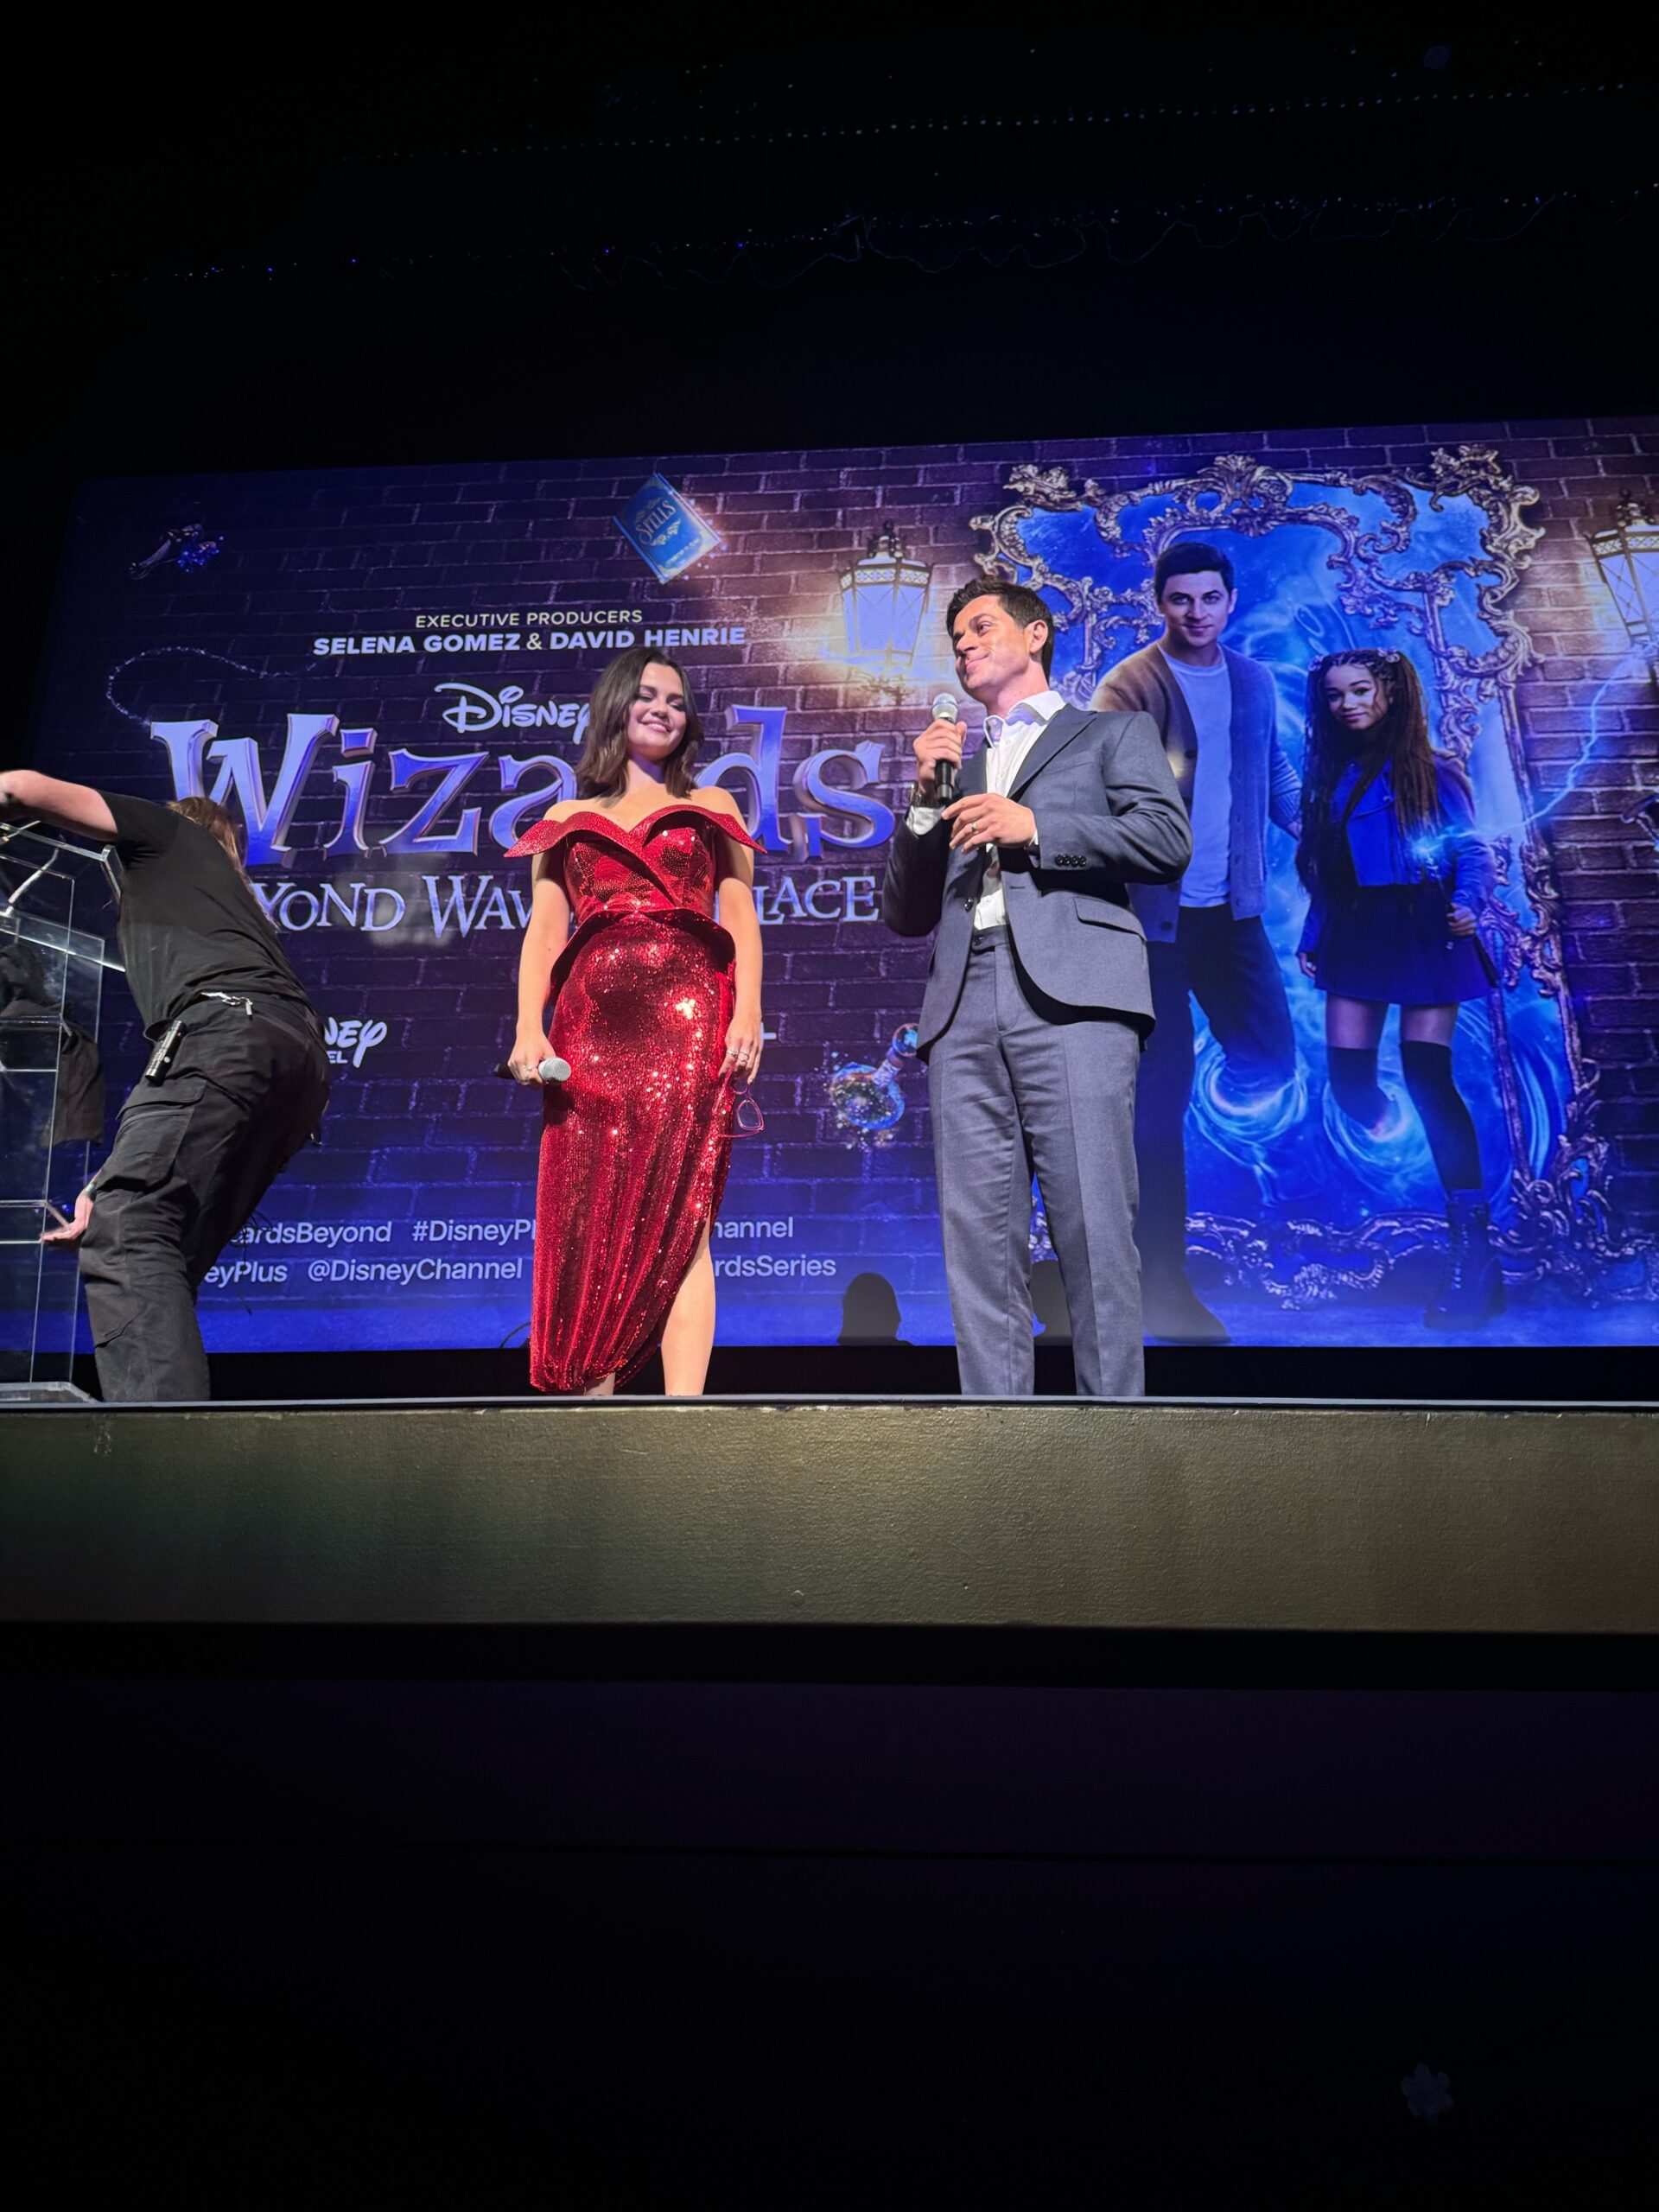
[[[219,838],[148,799],[102,792],[122,856],[122,960],[146,1031],[197,991],[246,991],[316,1013]]]

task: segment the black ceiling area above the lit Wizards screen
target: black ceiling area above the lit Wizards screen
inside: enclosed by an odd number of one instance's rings
[[[1628,35],[201,22],[20,73],[44,480],[1652,398]]]

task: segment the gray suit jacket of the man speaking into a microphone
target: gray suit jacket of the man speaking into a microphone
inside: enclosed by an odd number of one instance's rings
[[[962,763],[962,796],[982,794],[984,748]],[[1130,883],[1172,883],[1192,858],[1181,794],[1150,714],[1051,717],[1015,776],[1011,799],[1037,818],[1037,863],[1002,854],[1002,902],[1020,967],[1062,1006],[1115,1013],[1150,1031],[1146,938],[1128,902]],[[951,1026],[973,945],[982,852],[951,852],[951,825],[916,836],[902,821],[887,852],[880,918],[900,938],[938,927],[918,1051]]]

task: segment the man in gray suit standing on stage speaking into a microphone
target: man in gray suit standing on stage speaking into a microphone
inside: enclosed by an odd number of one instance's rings
[[[1048,688],[1053,617],[1037,593],[964,584],[945,624],[987,743],[962,761],[960,721],[916,739],[880,911],[905,938],[938,929],[918,1051],[962,1391],[1035,1387],[1035,1172],[1077,1389],[1135,1398],[1135,1073],[1152,995],[1126,885],[1181,874],[1186,810],[1148,714],[1084,712]],[[960,763],[962,796],[947,807],[940,761]]]

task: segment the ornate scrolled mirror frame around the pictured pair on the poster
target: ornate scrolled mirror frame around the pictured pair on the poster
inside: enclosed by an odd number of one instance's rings
[[[1318,487],[1327,495],[1296,491]],[[1130,489],[1108,489],[1093,478],[1075,484],[1064,467],[1015,467],[1004,487],[1013,500],[975,515],[989,535],[978,553],[987,575],[1004,575],[1055,604],[1055,628],[1079,633],[1079,666],[1064,688],[1086,706],[1097,679],[1124,653],[1161,635],[1152,604],[1150,566],[1181,535],[1232,531],[1265,538],[1279,529],[1325,531],[1325,566],[1336,577],[1336,604],[1374,630],[1405,630],[1422,641],[1433,668],[1433,717],[1442,748],[1467,761],[1482,728],[1482,708],[1495,706],[1509,765],[1522,801],[1520,841],[1493,838],[1498,880],[1480,916],[1495,953],[1500,982],[1489,995],[1493,1060],[1509,1133],[1511,1219],[1502,1232],[1504,1272],[1511,1283],[1551,1281],[1582,1298],[1644,1298],[1659,1281],[1659,1248],[1619,1232],[1608,1201],[1608,1144],[1595,1133],[1599,1071],[1584,1057],[1577,1015],[1566,991],[1559,889],[1537,823],[1542,807],[1517,710],[1517,679],[1535,659],[1520,615],[1506,604],[1544,535],[1522,520],[1537,491],[1515,480],[1491,447],[1436,449],[1422,467],[1298,469],[1285,471],[1243,453],[1221,453],[1190,476],[1166,476]],[[1329,493],[1371,495],[1385,520],[1367,522]],[[1442,560],[1436,566],[1385,573],[1413,551],[1425,513],[1467,500],[1480,511],[1480,560]],[[1146,511],[1155,509],[1155,511]],[[1144,513],[1146,511],[1146,513]],[[1091,513],[1104,555],[1102,575],[1064,575],[1026,544],[1037,515]],[[1124,524],[1144,526],[1128,535]],[[1130,564],[1133,571],[1130,571]],[[1449,635],[1447,608],[1473,586],[1491,644],[1471,650]],[[1115,650],[1117,648],[1117,650]],[[1515,865],[1520,863],[1520,880]],[[1509,1040],[1506,993],[1528,975],[1559,1015],[1566,1066],[1562,1126],[1542,1172],[1528,1159],[1522,1097]],[[1197,1212],[1188,1225],[1194,1250],[1223,1263],[1234,1285],[1261,1292],[1279,1307],[1325,1303],[1343,1292],[1383,1285],[1394,1267],[1438,1239],[1438,1214],[1420,1210],[1374,1212],[1358,1228],[1296,1217],[1272,1223]]]

